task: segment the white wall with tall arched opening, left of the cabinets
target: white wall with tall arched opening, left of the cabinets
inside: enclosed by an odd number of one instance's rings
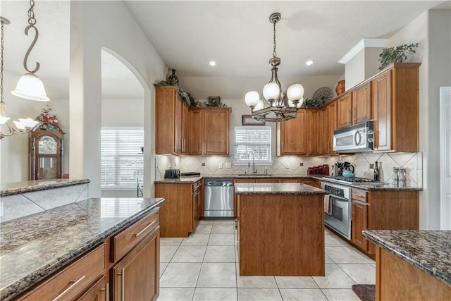
[[[89,178],[92,197],[101,195],[101,49],[111,49],[144,88],[144,196],[151,197],[152,83],[166,78],[166,67],[121,1],[72,1],[70,24],[70,174]]]

